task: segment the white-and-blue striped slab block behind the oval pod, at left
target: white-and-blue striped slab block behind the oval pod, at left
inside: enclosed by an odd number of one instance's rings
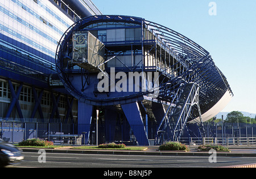
[[[77,100],[56,74],[56,48],[73,23],[100,14],[90,0],[0,2],[1,118],[76,122]]]

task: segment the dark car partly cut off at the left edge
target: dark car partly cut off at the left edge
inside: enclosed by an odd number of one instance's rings
[[[13,144],[0,139],[0,167],[18,164],[23,159],[22,151]]]

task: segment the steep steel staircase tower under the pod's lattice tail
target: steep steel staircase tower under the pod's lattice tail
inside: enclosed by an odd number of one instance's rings
[[[171,105],[166,111],[158,127],[155,144],[179,141],[188,118],[193,118],[194,110],[197,110],[200,125],[203,127],[201,110],[199,106],[200,87],[195,83],[181,84],[176,92]]]

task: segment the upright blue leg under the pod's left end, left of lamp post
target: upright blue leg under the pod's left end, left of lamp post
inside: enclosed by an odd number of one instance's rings
[[[93,106],[85,103],[78,103],[78,134],[84,134],[83,144],[88,144],[90,136],[90,123],[92,122]]]

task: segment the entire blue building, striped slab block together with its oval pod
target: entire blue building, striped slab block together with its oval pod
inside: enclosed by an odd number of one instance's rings
[[[23,139],[203,136],[233,96],[207,50],[158,23],[102,15],[90,0],[2,0],[0,17],[0,120],[35,119],[19,125]]]

